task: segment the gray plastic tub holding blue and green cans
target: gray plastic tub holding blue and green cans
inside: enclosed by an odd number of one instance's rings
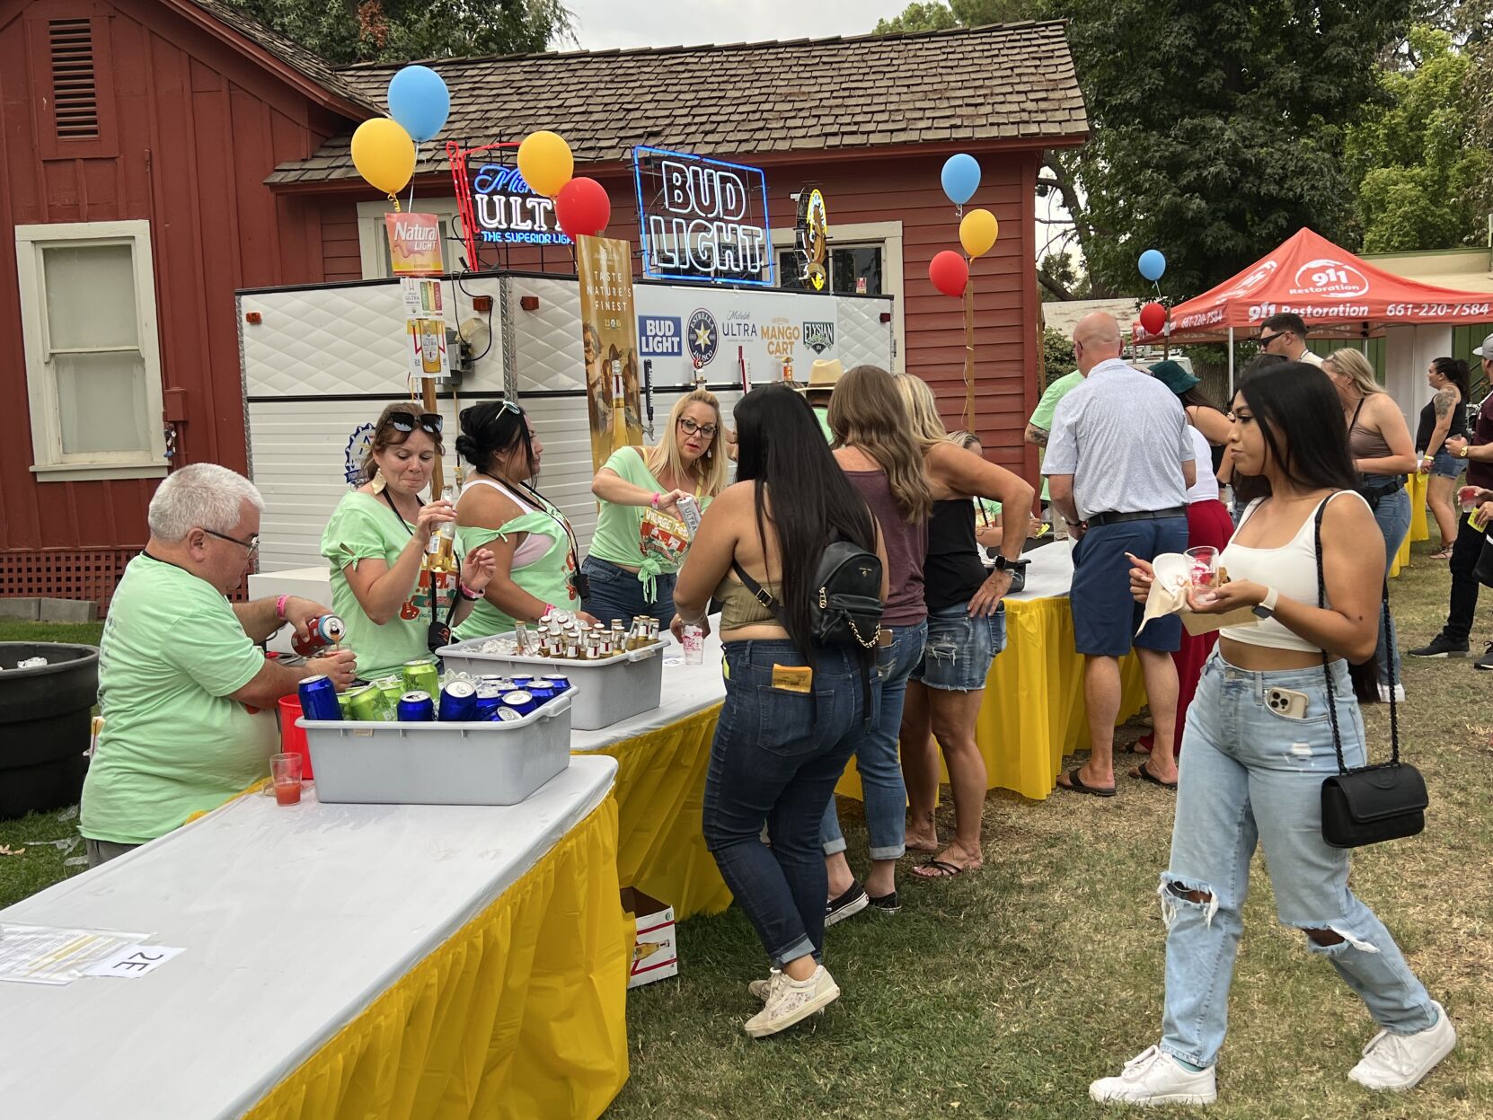
[[[349,723],[306,729],[317,799],[376,805],[517,805],[570,765],[570,694],[502,723]]]

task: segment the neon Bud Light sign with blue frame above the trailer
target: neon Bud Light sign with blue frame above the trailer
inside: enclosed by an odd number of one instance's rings
[[[772,287],[767,176],[760,167],[633,148],[643,275]]]

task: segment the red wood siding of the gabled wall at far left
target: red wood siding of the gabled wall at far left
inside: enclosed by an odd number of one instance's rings
[[[97,140],[46,131],[48,21],[60,18],[93,19]],[[28,408],[13,227],[148,220],[163,388],[185,390],[173,464],[245,469],[233,293],[321,281],[333,243],[318,203],[276,197],[263,181],[346,127],[151,0],[0,4],[0,394],[10,415]],[[39,585],[36,559],[107,564],[139,548],[155,482],[39,484],[27,429],[0,441],[0,594],[76,594],[61,579]]]

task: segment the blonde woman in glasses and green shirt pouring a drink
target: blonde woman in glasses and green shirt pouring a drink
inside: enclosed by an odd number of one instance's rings
[[[673,621],[673,579],[690,547],[679,499],[693,497],[705,512],[726,488],[724,444],[720,400],[696,388],[675,402],[657,447],[620,448],[596,472],[591,493],[602,508],[581,569],[588,612],[602,621]]]

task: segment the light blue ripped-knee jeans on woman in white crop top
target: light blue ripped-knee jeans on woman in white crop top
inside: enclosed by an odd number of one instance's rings
[[[1332,669],[1344,760],[1362,766],[1363,718],[1348,668],[1338,662]],[[1306,694],[1305,718],[1269,706],[1277,688]],[[1430,1027],[1430,996],[1390,932],[1348,890],[1348,853],[1321,838],[1321,783],[1338,772],[1323,671],[1245,672],[1215,653],[1182,738],[1172,860],[1159,890],[1166,920],[1162,1050],[1197,1066],[1218,1056],[1257,842],[1281,923],[1342,938],[1336,945],[1308,941],[1308,948],[1332,962],[1386,1030]],[[1209,899],[1194,902],[1190,892]]]

